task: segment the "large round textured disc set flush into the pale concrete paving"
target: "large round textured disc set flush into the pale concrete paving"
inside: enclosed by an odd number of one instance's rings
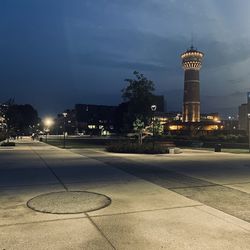
[[[35,211],[51,214],[77,214],[107,207],[111,199],[86,191],[62,191],[38,195],[27,202]]]

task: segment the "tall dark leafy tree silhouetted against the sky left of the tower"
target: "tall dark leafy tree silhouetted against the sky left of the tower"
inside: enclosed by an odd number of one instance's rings
[[[122,90],[122,98],[128,103],[128,110],[124,115],[130,128],[137,118],[145,125],[149,124],[155,90],[153,81],[137,71],[133,74],[135,79],[125,79],[128,86]]]

